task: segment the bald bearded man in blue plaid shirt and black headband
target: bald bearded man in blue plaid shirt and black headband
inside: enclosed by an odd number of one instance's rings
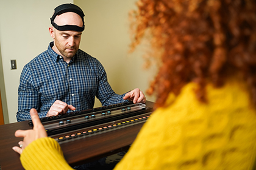
[[[79,49],[85,24],[84,12],[77,5],[56,7],[51,24],[49,33],[54,41],[26,64],[21,73],[17,121],[30,120],[31,108],[37,109],[39,117],[91,109],[95,96],[102,106],[126,100],[146,102],[140,89],[115,94],[102,64]]]

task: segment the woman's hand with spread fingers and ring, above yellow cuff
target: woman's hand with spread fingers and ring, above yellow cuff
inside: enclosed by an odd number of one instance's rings
[[[15,152],[18,152],[19,154],[21,154],[26,146],[29,145],[29,143],[31,143],[32,141],[37,140],[38,138],[47,137],[47,133],[43,127],[43,124],[41,124],[40,118],[38,117],[37,110],[31,109],[30,115],[34,124],[33,130],[18,130],[15,132],[15,137],[23,137],[23,141],[19,141],[18,143],[20,147],[14,146],[12,148]]]

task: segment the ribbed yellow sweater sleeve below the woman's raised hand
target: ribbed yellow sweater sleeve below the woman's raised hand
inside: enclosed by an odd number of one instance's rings
[[[24,169],[73,169],[63,157],[59,143],[50,137],[30,143],[23,150],[20,160]]]

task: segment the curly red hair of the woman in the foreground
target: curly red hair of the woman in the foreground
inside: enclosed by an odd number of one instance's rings
[[[256,106],[256,1],[140,0],[137,6],[131,49],[148,35],[161,51],[162,66],[148,89],[158,107],[190,82],[207,103],[206,84],[221,87],[234,74],[246,81]]]

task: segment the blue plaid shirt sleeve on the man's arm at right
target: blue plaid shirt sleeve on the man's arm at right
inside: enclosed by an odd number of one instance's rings
[[[99,69],[99,85],[96,97],[101,101],[102,106],[108,106],[116,103],[123,103],[128,100],[124,100],[123,97],[125,94],[118,95],[116,94],[110,84],[107,81],[107,73],[105,72],[104,67],[98,61]]]

